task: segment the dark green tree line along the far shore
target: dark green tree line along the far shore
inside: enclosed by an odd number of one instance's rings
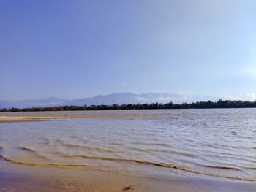
[[[82,110],[162,110],[162,109],[211,109],[211,108],[246,108],[256,107],[256,101],[200,101],[193,103],[167,104],[112,104],[112,105],[91,105],[91,106],[59,106],[59,107],[32,107],[3,109],[0,112],[30,112],[30,111],[82,111]]]

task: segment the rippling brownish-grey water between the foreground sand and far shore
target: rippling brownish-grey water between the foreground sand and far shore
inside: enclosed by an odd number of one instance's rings
[[[0,123],[1,157],[38,166],[132,172],[149,165],[256,180],[256,109],[68,113],[109,116]]]

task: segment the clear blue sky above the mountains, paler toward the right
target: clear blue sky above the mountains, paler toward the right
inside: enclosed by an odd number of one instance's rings
[[[256,99],[256,1],[0,0],[0,99]]]

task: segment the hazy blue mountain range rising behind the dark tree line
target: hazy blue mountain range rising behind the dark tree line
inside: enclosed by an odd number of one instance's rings
[[[56,97],[49,97],[45,99],[32,99],[20,101],[5,101],[0,100],[0,109],[3,108],[26,108],[26,107],[54,107],[64,105],[99,105],[99,104],[137,104],[137,103],[152,103],[159,102],[162,104],[172,101],[173,103],[180,104],[182,102],[192,101],[217,101],[218,98],[211,96],[186,96],[181,94],[170,93],[113,93],[108,95],[99,95],[83,99],[59,99]]]

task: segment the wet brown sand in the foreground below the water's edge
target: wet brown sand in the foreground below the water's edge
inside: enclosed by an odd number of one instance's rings
[[[0,170],[0,191],[256,191],[254,182],[156,172],[129,175],[93,169],[22,166],[6,161],[0,161]]]

